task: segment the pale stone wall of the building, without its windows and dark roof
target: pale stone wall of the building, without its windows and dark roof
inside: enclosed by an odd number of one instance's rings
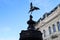
[[[39,28],[39,31],[41,31],[43,33],[43,30],[46,31],[46,37],[44,37],[43,34],[43,40],[60,40],[60,32],[58,31],[58,27],[57,27],[57,22],[60,22],[60,7],[58,6],[58,8],[52,12],[52,14],[50,14],[48,17],[46,17],[44,20],[42,20],[41,22],[39,22],[35,28]],[[55,24],[56,27],[56,32],[53,32],[53,28],[52,25]],[[49,26],[51,27],[52,30],[52,34],[49,34]],[[52,35],[57,35],[57,38],[52,39]]]

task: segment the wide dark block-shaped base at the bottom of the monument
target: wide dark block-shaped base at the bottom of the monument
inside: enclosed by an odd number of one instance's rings
[[[42,40],[42,33],[37,30],[23,30],[20,33],[20,40]]]

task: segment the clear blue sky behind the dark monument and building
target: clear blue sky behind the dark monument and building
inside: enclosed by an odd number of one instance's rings
[[[26,30],[29,6],[40,8],[33,12],[37,21],[45,12],[50,12],[60,0],[0,0],[0,40],[19,40],[21,30]]]

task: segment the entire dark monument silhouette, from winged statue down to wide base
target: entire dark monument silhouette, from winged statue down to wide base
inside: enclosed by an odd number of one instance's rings
[[[30,11],[29,11],[29,12],[31,12],[30,19],[27,21],[28,28],[27,28],[27,30],[21,31],[19,40],[43,40],[41,31],[36,30],[34,27],[36,24],[36,22],[32,20],[32,18],[33,18],[32,12],[34,10],[39,10],[39,8],[33,6],[32,2],[31,2]]]

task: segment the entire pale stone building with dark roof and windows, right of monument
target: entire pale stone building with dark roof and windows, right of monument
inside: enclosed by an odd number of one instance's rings
[[[45,13],[35,28],[43,33],[43,40],[60,40],[60,5]]]

